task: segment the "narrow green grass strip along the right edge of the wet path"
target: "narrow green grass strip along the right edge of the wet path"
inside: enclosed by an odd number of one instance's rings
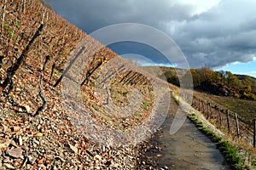
[[[234,167],[235,169],[246,169],[241,156],[238,156],[236,146],[222,139],[216,133],[213,133],[208,127],[204,127],[202,122],[195,118],[195,114],[189,115],[188,117],[195,123],[196,127],[199,127],[201,132],[205,133],[207,137],[217,144],[218,150],[220,150],[231,167]]]

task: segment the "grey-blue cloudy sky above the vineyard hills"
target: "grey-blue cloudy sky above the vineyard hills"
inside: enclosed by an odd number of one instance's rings
[[[47,0],[56,14],[86,33],[120,23],[152,26],[181,49],[189,67],[210,67],[256,77],[255,0]],[[108,46],[170,65],[155,48],[137,42]],[[127,55],[126,55],[127,56]]]

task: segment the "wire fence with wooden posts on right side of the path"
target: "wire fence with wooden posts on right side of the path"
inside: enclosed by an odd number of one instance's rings
[[[191,94],[184,94],[183,98],[189,101]],[[256,147],[256,119],[246,121],[239,116],[239,113],[226,110],[217,103],[211,103],[207,99],[195,96],[193,96],[191,106],[200,111],[215,127],[228,133],[233,140],[239,139]]]

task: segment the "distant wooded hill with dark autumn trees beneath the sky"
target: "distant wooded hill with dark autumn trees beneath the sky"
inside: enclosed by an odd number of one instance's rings
[[[148,66],[148,71],[154,66]],[[160,66],[161,73],[158,76],[179,86],[177,71],[185,71],[179,68]],[[207,93],[233,96],[239,99],[256,100],[256,78],[247,75],[236,75],[230,71],[213,71],[207,67],[190,69],[193,77],[194,88]]]

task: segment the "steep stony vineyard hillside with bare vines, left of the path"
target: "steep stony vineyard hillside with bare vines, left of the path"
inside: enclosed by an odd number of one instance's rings
[[[132,129],[147,124],[154,99],[162,100],[149,80],[161,88],[166,82],[142,73],[38,0],[5,0],[0,7],[0,167],[136,167],[139,151],[121,145],[147,137]],[[134,88],[140,98],[129,93]],[[136,111],[119,110],[132,103]],[[148,128],[142,129],[154,131]],[[112,132],[126,136],[108,139]]]

